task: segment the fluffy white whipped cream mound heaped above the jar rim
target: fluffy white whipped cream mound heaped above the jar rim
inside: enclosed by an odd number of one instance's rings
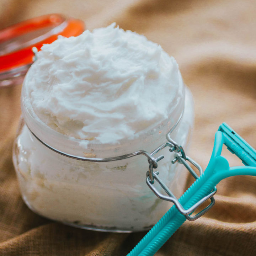
[[[45,44],[23,86],[25,104],[50,128],[119,143],[168,118],[181,83],[161,46],[115,23]]]

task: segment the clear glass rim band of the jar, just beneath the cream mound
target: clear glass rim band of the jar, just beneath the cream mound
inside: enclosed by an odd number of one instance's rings
[[[25,78],[26,80],[26,78]],[[169,117],[162,120],[159,123],[154,123],[146,129],[140,130],[132,138],[123,138],[118,143],[106,143],[102,144],[98,141],[89,141],[83,139],[77,139],[69,137],[68,135],[57,132],[50,128],[44,122],[39,119],[31,106],[29,101],[26,101],[27,91],[25,86],[22,87],[21,95],[21,110],[27,127],[31,130],[32,134],[36,138],[49,145],[51,148],[57,151],[64,152],[65,154],[78,156],[82,158],[98,158],[101,159],[113,157],[113,152],[119,151],[120,155],[130,154],[131,152],[138,151],[138,142],[144,141],[149,145],[146,148],[150,151],[150,140],[153,140],[154,135],[159,135],[159,144],[166,141],[165,135],[175,129],[180,122],[185,106],[185,85],[180,74],[180,81],[178,90],[174,100],[172,100],[172,106],[169,110]]]

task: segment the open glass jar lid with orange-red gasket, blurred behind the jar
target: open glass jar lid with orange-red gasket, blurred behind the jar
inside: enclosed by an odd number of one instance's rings
[[[59,35],[78,36],[84,22],[59,14],[22,21],[0,31],[0,87],[20,84],[33,61],[32,47],[40,49]]]

